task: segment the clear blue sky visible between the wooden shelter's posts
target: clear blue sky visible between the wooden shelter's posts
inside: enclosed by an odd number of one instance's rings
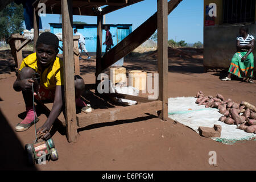
[[[156,10],[156,0],[144,0],[134,5],[106,14],[107,24],[133,24],[133,30],[150,18]],[[60,15],[47,14],[42,18],[43,29],[49,28],[49,23],[59,23]],[[187,43],[200,41],[203,43],[204,1],[183,0],[171,14],[168,15],[168,40],[185,40]],[[73,16],[73,21],[96,24],[96,16]]]

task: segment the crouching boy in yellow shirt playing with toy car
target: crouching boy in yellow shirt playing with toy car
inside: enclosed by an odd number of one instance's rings
[[[57,53],[59,52],[58,46],[59,39],[57,36],[50,32],[44,32],[38,37],[36,52],[28,55],[20,65],[20,72],[14,82],[13,88],[17,92],[22,91],[27,115],[22,122],[16,125],[16,131],[25,131],[34,124],[32,83],[35,90],[35,99],[53,102],[49,117],[37,131],[47,133],[44,135],[44,139],[47,140],[51,137],[48,131],[51,129],[53,122],[60,115],[61,111],[64,111],[63,60],[57,57]],[[36,73],[40,75],[39,80],[32,79],[33,76],[38,77]],[[92,111],[90,105],[86,105],[84,101],[80,99],[84,88],[84,80],[76,75],[76,105],[83,107],[83,111],[90,112]],[[36,118],[36,122],[37,121],[38,118]]]

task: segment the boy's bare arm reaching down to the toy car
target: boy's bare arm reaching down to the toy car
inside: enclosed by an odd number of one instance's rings
[[[49,130],[53,122],[59,117],[62,108],[63,108],[63,97],[64,97],[64,86],[57,85],[55,89],[55,97],[53,101],[53,106],[49,117],[47,118],[46,122],[37,130],[37,134],[39,132],[46,133],[43,139],[48,140],[51,138],[51,134],[49,134]]]

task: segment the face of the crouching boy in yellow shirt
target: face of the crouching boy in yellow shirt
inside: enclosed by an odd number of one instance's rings
[[[54,46],[39,43],[36,45],[36,57],[42,67],[47,67],[55,60],[59,50],[55,50]]]

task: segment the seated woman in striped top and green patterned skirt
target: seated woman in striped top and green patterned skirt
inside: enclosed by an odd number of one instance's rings
[[[243,81],[253,83],[254,69],[254,37],[250,35],[247,27],[240,28],[240,36],[237,38],[237,52],[234,54],[228,76],[222,81],[231,80],[231,74],[243,78]]]

